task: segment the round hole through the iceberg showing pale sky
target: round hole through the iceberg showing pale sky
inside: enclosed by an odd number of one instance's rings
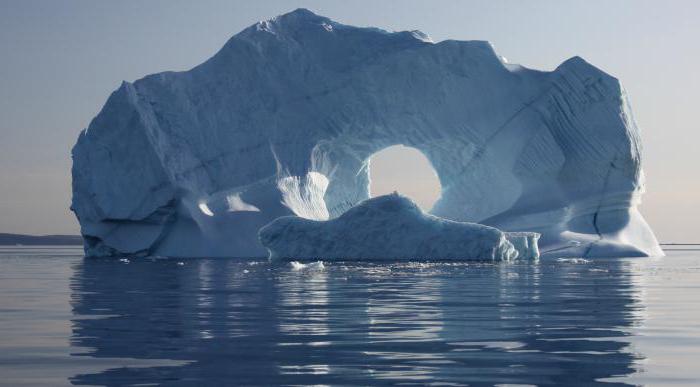
[[[369,196],[394,191],[410,197],[423,211],[430,211],[440,197],[440,180],[428,158],[418,149],[394,145],[368,160]]]

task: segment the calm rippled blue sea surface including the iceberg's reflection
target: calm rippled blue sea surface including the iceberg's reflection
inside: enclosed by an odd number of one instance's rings
[[[700,251],[318,266],[2,248],[0,384],[700,383]]]

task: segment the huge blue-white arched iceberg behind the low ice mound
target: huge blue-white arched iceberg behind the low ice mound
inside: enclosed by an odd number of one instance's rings
[[[72,209],[88,255],[265,255],[263,225],[343,214],[368,198],[368,158],[396,144],[435,168],[434,215],[542,233],[545,254],[662,254],[615,78],[303,9],[192,70],[124,82],[73,149]]]

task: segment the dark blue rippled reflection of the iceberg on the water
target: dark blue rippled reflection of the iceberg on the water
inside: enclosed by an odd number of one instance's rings
[[[189,362],[73,382],[603,383],[640,356],[625,340],[642,309],[629,266],[84,260],[74,346]]]

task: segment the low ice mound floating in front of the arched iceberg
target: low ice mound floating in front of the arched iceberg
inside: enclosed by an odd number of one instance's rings
[[[276,219],[260,230],[272,259],[485,260],[534,259],[538,234],[508,234],[425,214],[398,194],[365,200],[331,220]]]

